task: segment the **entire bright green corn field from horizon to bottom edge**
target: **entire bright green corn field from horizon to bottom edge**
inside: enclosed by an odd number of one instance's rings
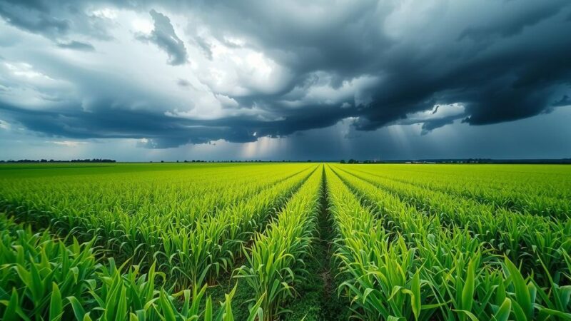
[[[1,320],[571,320],[571,167],[0,165]]]

